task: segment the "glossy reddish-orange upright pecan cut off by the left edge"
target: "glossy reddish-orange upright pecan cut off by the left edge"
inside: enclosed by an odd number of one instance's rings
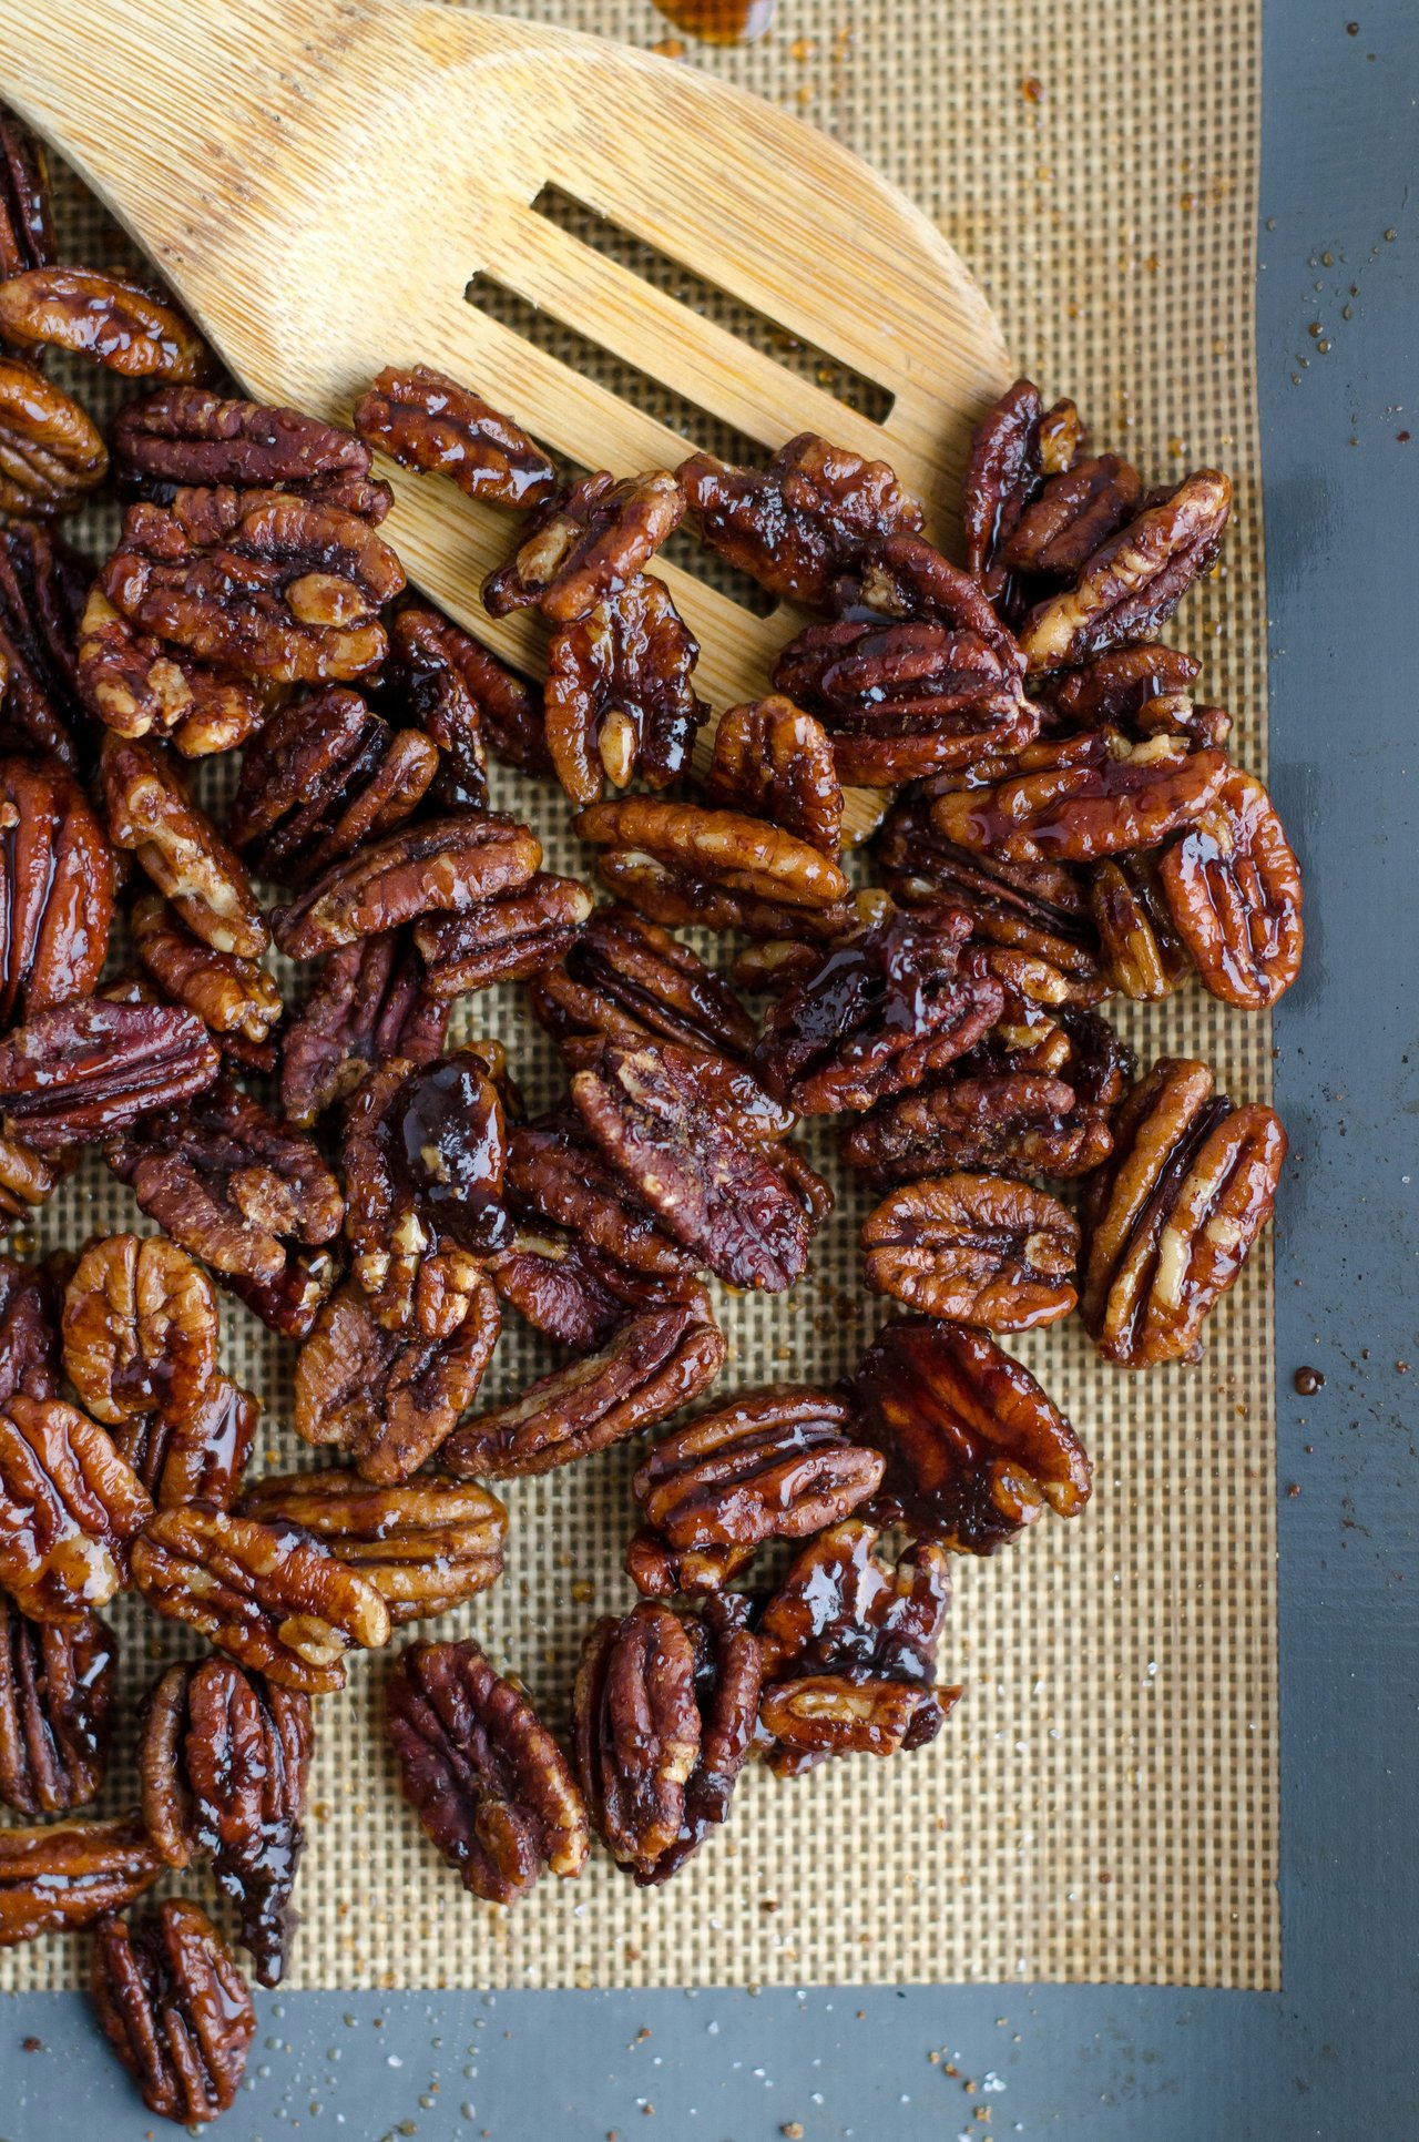
[[[0,1030],[90,996],[116,876],[79,784],[62,767],[0,758]]]

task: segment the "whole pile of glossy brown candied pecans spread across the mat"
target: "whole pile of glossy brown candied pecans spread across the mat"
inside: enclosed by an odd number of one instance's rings
[[[342,431],[220,394],[165,296],[58,266],[11,118],[0,148],[0,1204],[24,1221],[94,1146],[161,1227],[0,1259],[0,1797],[30,1823],[0,1829],[0,1943],[96,1926],[118,2054],[154,2112],[205,2121],[255,2028],[242,1975],[199,1904],[122,1913],[205,1864],[276,1983],[312,1699],[499,1579],[482,1482],[678,1416],[569,1750],[471,1639],[387,1677],[407,1797],[473,1896],[576,1876],[593,1834],[666,1881],[751,1752],[792,1778],[940,1731],[948,1555],[1089,1495],[1000,1334],[1079,1307],[1124,1369],[1196,1358],[1286,1150],[1201,1062],[1139,1077],[1098,1005],[1196,975],[1269,1007],[1301,889],[1199,662],[1156,636],[1218,557],[1218,471],[1149,493],[1019,381],[955,565],[884,463],[818,437],[563,480],[426,368]],[[139,388],[107,439],[51,347]],[[541,613],[546,690],[407,591],[377,452],[518,516],[486,606]],[[126,512],[94,572],[56,523],[105,478]],[[702,778],[698,647],[651,570],[683,521],[818,613]],[[238,748],[218,827],[184,763]],[[490,760],[561,784],[610,902],[488,808]],[[858,891],[843,784],[895,793]],[[732,966],[681,925],[734,932]],[[565,1062],[541,1116],[497,1041],[447,1045],[501,981]],[[726,1360],[706,1279],[781,1294],[809,1264],[833,1200],[794,1129],[828,1114],[882,1193],[865,1283],[903,1313],[839,1388],[685,1418]],[[244,1482],[218,1289],[300,1349],[295,1433],[340,1463]],[[479,1407],[507,1313],[561,1352]],[[794,1559],[756,1583],[770,1542]],[[212,1649],[158,1677],[139,1804],[94,1821],[120,1587]]]

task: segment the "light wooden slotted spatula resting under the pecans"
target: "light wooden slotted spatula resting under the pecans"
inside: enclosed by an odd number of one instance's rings
[[[0,94],[156,261],[248,394],[347,418],[381,364],[432,364],[591,469],[691,450],[469,302],[475,274],[762,448],[800,431],[892,463],[955,518],[1000,330],[940,231],[826,135],[653,54],[428,0],[0,0]],[[584,203],[884,390],[845,407],[533,206]],[[492,623],[505,514],[390,465],[390,533],[452,617]],[[766,690],[792,617],[657,565],[715,709]],[[850,812],[871,823],[867,797]]]

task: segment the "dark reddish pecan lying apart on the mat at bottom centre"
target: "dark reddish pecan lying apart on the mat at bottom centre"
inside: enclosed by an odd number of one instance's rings
[[[514,1904],[544,1868],[582,1872],[591,1836],[571,1765],[471,1636],[400,1651],[385,1737],[405,1799],[471,1896]]]

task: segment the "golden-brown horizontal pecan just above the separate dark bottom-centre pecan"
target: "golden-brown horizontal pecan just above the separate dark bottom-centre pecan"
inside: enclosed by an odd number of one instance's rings
[[[370,1579],[394,1624],[462,1606],[503,1574],[507,1510],[471,1480],[368,1487],[345,1469],[285,1474],[257,1480],[242,1514],[302,1525]]]

